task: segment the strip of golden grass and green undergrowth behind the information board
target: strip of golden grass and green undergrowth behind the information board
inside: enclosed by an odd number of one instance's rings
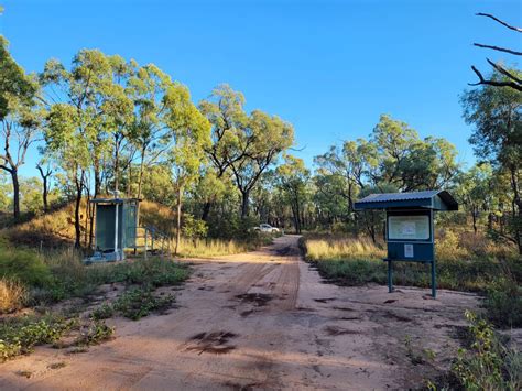
[[[460,247],[456,236],[447,231],[448,241],[439,240],[436,246],[437,257],[437,285],[442,289],[455,291],[482,292],[487,294],[487,300],[491,301],[491,316],[502,322],[502,314],[515,311],[510,316],[504,316],[503,321],[510,322],[519,318],[516,308],[520,306],[520,293],[515,294],[516,283],[520,281],[520,267],[516,257],[505,253],[498,247],[497,253],[492,247],[477,249],[472,252],[468,248]],[[482,240],[487,240],[482,238]],[[474,240],[470,245],[476,247]],[[372,246],[367,239],[346,239],[342,237],[317,237],[306,236],[302,240],[306,259],[313,262],[319,272],[327,279],[344,285],[359,285],[368,282],[387,283],[387,267],[382,262],[385,253],[382,248]],[[507,273],[505,269],[510,272]],[[500,275],[511,275],[511,284],[497,286],[494,281]],[[414,285],[421,287],[429,286],[428,265],[412,262],[398,262],[394,264],[394,283],[399,285]],[[513,285],[514,284],[514,285]],[[509,286],[509,289],[508,289]],[[494,292],[494,295],[493,295]],[[491,295],[491,296],[490,296]],[[511,295],[508,300],[508,295]],[[488,298],[490,297],[490,298]],[[493,298],[496,297],[496,298]],[[500,303],[502,297],[505,302]],[[498,315],[494,312],[498,311]],[[500,323],[499,323],[500,324]],[[505,324],[507,325],[507,324]]]

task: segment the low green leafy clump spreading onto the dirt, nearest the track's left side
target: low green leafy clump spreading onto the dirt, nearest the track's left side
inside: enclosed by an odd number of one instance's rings
[[[152,312],[170,308],[173,302],[173,295],[157,296],[150,289],[132,287],[118,297],[113,308],[124,317],[138,321]]]

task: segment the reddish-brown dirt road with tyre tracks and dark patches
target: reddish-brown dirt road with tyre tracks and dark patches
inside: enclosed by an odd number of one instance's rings
[[[297,239],[195,262],[178,308],[112,319],[117,337],[85,354],[37,348],[0,365],[0,389],[380,390],[447,368],[475,296],[325,284]]]

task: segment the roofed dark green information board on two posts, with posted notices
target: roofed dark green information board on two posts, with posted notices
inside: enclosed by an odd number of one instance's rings
[[[393,292],[394,261],[431,263],[432,295],[436,296],[434,211],[458,210],[446,191],[371,194],[355,203],[355,209],[387,213],[388,285]]]

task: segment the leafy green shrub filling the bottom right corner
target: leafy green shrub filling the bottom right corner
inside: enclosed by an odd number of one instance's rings
[[[520,390],[522,357],[503,346],[490,324],[466,312],[472,338],[469,350],[460,349],[452,370],[466,390]]]

